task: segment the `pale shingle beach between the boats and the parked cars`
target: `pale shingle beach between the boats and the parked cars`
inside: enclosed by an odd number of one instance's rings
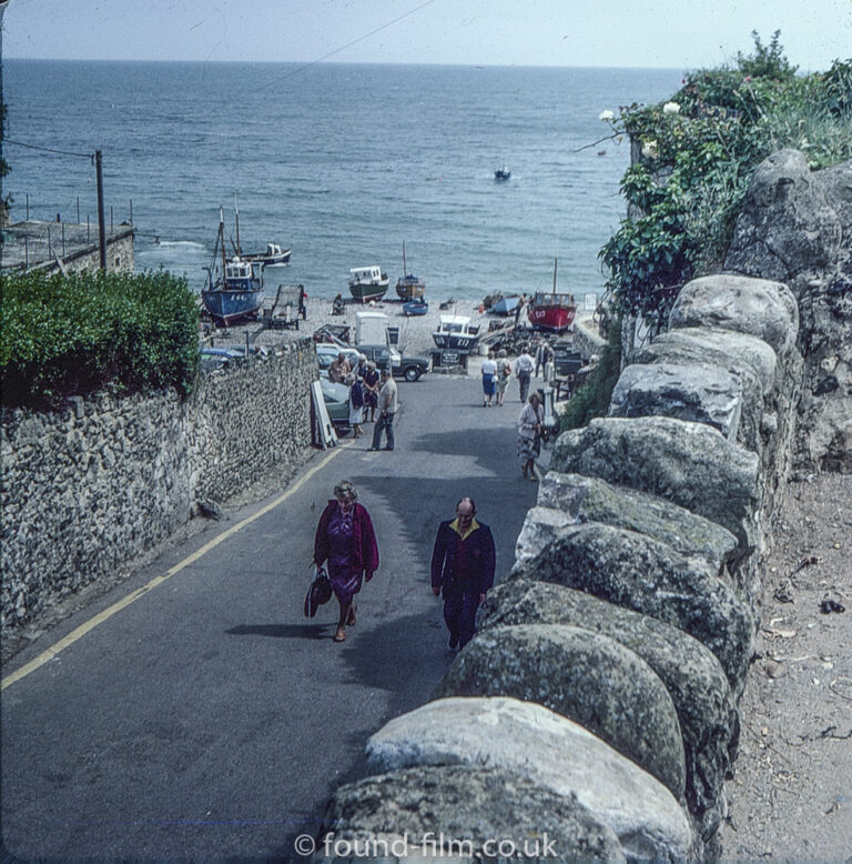
[[[373,310],[384,312],[389,319],[389,325],[399,328],[399,346],[402,352],[428,358],[429,353],[435,349],[432,333],[437,330],[442,315],[469,317],[470,322],[479,326],[480,335],[488,334],[491,322],[503,323],[506,328],[511,328],[515,322],[511,315],[508,318],[493,315],[486,311],[480,312],[479,309],[480,303],[473,300],[454,302],[447,309],[440,309],[440,301],[429,301],[429,311],[425,315],[407,317],[403,313],[403,304],[400,302],[384,300],[375,305],[346,303],[344,314],[334,315],[332,314],[331,300],[308,299],[307,320],[300,321],[298,330],[273,330],[265,328],[260,321],[252,321],[226,329],[214,328],[210,339],[215,345],[243,345],[245,344],[246,336],[248,336],[252,344],[275,346],[311,335],[324,324],[349,325],[352,328],[352,338],[354,339],[356,313],[364,310]],[[526,315],[523,315],[523,320],[526,320]],[[580,312],[578,312],[578,320],[584,320]],[[532,331],[530,330],[530,338],[531,335]]]

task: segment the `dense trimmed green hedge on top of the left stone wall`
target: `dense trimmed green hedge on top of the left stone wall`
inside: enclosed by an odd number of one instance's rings
[[[59,408],[104,388],[185,395],[195,382],[197,303],[163,270],[3,277],[0,324],[6,408]]]

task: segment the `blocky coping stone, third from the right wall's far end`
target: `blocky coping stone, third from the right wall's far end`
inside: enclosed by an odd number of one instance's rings
[[[734,442],[742,414],[739,376],[709,363],[631,363],[612,390],[609,416],[673,416],[708,423]]]

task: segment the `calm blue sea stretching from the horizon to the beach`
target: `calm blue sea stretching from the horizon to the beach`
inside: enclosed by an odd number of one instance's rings
[[[427,297],[600,291],[627,141],[598,115],[656,102],[677,70],[9,60],[8,138],[103,151],[105,203],[139,231],[138,269],[201,288],[219,205],[246,251],[292,245],[277,282],[348,295],[349,268],[408,269]],[[599,151],[605,151],[599,154]],[[97,223],[88,159],[6,147],[12,219]],[[511,180],[497,183],[505,161]],[[159,242],[158,242],[159,239]]]

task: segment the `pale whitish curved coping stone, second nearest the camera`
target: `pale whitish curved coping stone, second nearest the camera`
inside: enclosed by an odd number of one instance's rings
[[[511,771],[576,800],[618,836],[628,861],[680,862],[687,817],[650,774],[567,717],[534,702],[442,699],[395,717],[367,742],[376,773],[423,765]]]

